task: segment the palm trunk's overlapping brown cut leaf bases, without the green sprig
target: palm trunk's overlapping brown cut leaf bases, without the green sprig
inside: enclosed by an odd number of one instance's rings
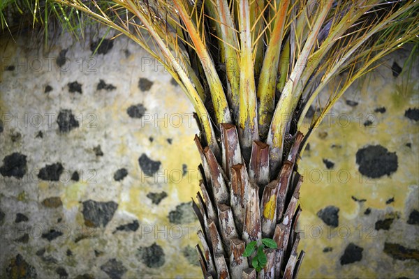
[[[255,141],[249,162],[242,158],[237,129],[221,124],[221,158],[200,141],[195,142],[201,159],[200,193],[193,210],[202,229],[197,246],[205,278],[296,278],[304,252],[297,254],[300,236],[298,198],[302,176],[296,158],[303,136],[293,137],[278,176],[270,175],[269,146]],[[256,272],[253,257],[243,257],[246,245],[263,238],[278,248],[265,249],[267,264]]]

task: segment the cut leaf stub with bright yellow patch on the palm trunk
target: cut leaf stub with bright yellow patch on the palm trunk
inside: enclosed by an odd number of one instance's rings
[[[272,238],[277,225],[277,195],[279,181],[271,181],[263,189],[262,199],[260,200],[260,224],[262,226],[262,237]]]

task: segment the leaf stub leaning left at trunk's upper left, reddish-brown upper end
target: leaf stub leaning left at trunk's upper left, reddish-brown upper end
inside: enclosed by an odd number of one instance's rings
[[[226,204],[228,202],[229,193],[227,190],[225,174],[217,162],[214,153],[207,146],[204,149],[205,158],[207,158],[210,167],[212,193],[214,193],[214,200],[216,204]]]

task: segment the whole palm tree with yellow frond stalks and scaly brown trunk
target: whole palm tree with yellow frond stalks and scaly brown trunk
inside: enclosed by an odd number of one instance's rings
[[[134,40],[191,100],[200,128],[202,180],[193,210],[202,227],[196,250],[205,278],[296,278],[304,257],[297,254],[297,169],[307,139],[355,80],[419,36],[414,0],[54,5]],[[303,135],[309,107],[337,77],[339,86]]]

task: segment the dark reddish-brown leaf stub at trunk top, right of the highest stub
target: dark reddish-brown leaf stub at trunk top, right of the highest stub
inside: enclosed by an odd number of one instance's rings
[[[269,183],[269,145],[254,141],[251,147],[249,178],[264,187]]]

